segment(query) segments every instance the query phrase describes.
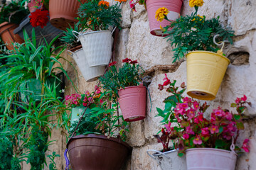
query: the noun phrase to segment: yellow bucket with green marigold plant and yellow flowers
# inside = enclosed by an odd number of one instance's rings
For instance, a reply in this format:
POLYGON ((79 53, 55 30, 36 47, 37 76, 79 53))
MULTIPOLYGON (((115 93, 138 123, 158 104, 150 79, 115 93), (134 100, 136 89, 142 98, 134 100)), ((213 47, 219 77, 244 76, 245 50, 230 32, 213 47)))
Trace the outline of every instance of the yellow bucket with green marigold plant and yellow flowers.
MULTIPOLYGON (((230 63, 223 55, 223 47, 220 49, 218 45, 224 45, 224 42, 232 44, 234 31, 224 28, 219 17, 206 19, 206 16, 198 16, 198 6, 203 5, 203 0, 191 0, 189 4, 196 12, 191 16, 181 16, 163 30, 169 34, 166 36, 167 41, 175 46, 174 62, 186 55, 188 95, 213 100, 230 63), (224 42, 217 44, 215 39, 224 42)), ((158 16, 164 16, 168 21, 164 13, 158 16)))

